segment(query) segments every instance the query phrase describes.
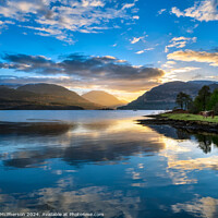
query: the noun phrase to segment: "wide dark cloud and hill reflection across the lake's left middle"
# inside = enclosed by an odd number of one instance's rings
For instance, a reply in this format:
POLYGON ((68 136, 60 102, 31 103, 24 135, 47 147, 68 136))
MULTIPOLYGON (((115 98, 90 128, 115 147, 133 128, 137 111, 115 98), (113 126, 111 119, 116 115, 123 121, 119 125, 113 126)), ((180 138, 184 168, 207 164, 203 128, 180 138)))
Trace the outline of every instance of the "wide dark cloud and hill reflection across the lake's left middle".
POLYGON ((16 141, 16 146, 10 155, 4 153, 0 157, 4 166, 17 168, 40 167, 53 158, 81 166, 120 161, 136 154, 154 155, 165 147, 154 140, 156 133, 150 132, 145 138, 142 133, 138 135, 137 129, 130 130, 129 122, 4 123, 5 128, 0 131, 0 138, 4 141, 0 146, 8 141, 16 141))

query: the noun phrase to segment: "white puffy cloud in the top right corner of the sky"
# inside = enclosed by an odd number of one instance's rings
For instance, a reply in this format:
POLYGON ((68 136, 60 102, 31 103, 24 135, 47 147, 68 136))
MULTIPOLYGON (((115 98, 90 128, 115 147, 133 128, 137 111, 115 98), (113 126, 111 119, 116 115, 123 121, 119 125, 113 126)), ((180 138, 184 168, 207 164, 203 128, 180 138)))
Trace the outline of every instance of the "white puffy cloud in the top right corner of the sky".
POLYGON ((218 21, 218 0, 196 1, 191 8, 180 11, 177 7, 171 9, 171 13, 180 16, 193 17, 197 21, 218 21))

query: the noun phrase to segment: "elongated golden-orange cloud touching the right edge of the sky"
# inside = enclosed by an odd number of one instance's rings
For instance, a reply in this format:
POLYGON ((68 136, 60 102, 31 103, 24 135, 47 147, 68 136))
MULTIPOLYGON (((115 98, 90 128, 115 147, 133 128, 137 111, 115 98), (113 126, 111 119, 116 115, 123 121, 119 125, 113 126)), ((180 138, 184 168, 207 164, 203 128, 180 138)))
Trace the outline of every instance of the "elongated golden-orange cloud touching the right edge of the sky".
POLYGON ((179 61, 209 63, 209 65, 218 66, 218 52, 180 50, 169 53, 167 58, 179 61))

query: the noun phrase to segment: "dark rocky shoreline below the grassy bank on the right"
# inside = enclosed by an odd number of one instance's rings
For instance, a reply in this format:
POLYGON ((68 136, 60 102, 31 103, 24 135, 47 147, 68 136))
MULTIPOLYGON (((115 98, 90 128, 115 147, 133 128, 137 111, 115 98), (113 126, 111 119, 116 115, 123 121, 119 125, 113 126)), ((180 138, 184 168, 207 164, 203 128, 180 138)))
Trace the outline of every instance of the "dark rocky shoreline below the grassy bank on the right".
POLYGON ((187 132, 196 133, 217 133, 218 123, 207 121, 194 121, 194 120, 175 120, 162 117, 165 113, 145 116, 148 119, 137 120, 142 125, 170 125, 175 129, 184 130, 187 132))

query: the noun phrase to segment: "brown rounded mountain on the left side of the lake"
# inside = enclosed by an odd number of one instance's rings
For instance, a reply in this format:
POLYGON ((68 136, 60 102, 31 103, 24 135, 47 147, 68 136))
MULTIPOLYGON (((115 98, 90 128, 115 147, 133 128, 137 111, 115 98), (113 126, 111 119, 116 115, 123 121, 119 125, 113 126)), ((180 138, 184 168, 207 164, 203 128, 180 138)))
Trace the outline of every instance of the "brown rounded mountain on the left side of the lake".
POLYGON ((74 92, 53 84, 0 86, 0 109, 100 109, 74 92))

